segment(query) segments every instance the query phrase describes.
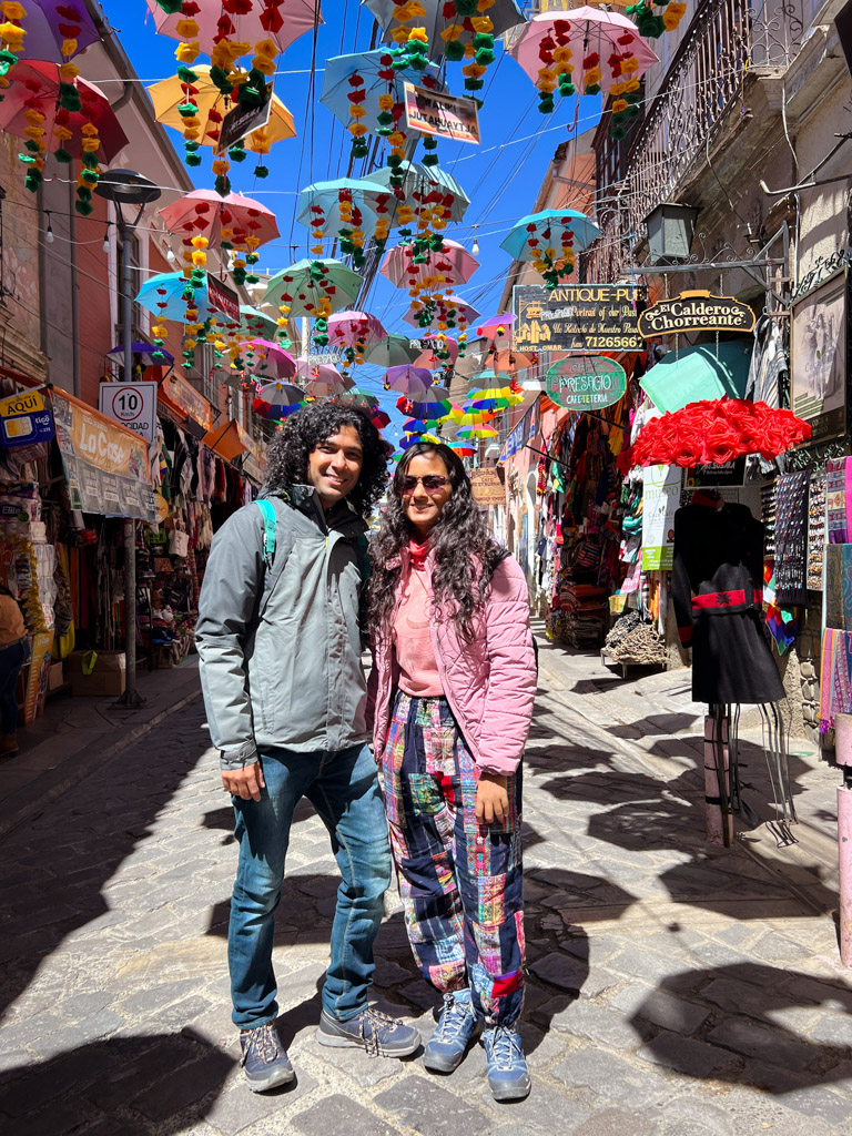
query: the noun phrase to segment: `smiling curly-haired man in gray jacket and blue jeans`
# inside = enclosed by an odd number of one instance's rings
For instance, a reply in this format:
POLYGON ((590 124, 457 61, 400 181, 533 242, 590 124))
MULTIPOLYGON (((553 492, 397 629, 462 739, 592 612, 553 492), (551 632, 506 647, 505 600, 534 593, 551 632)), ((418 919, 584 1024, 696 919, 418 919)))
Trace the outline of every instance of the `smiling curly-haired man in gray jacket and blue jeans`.
POLYGON ((245 506, 223 526, 204 574, 195 641, 210 734, 236 812, 228 966, 253 1092, 294 1076, 274 1025, 272 951, 302 796, 323 818, 343 877, 317 1039, 386 1056, 419 1045, 417 1030, 367 1009, 391 860, 365 744, 359 603, 364 518, 386 481, 384 442, 364 412, 306 407, 269 448, 264 503, 245 506))

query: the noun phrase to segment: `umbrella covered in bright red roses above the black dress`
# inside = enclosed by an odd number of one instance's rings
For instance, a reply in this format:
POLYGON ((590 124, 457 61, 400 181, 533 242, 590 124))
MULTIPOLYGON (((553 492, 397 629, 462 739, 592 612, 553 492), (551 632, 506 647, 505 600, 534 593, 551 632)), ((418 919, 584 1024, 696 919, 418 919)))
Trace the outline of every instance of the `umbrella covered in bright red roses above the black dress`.
POLYGON ((777 458, 811 436, 811 427, 792 410, 774 410, 746 399, 708 399, 652 418, 635 443, 619 454, 632 466, 724 465, 746 453, 777 458))

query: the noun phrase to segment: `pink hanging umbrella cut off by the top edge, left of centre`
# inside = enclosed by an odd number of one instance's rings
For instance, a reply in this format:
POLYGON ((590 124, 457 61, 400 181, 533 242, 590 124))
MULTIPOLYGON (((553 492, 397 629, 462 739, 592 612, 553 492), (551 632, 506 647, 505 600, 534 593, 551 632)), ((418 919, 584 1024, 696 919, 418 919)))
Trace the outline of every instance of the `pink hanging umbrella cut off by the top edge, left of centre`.
MULTIPOLYGON (((185 19, 185 5, 160 6, 158 0, 148 0, 153 14, 153 24, 160 35, 183 40, 178 25, 185 19), (167 10, 174 9, 172 11, 167 10)), ((247 51, 260 40, 272 40, 278 51, 284 51, 300 35, 310 32, 318 19, 319 5, 316 0, 241 0, 229 3, 227 10, 223 0, 194 0, 194 19, 199 49, 209 56, 219 40, 225 37, 236 43, 245 43, 247 51), (223 22, 227 20, 225 26, 223 22)))

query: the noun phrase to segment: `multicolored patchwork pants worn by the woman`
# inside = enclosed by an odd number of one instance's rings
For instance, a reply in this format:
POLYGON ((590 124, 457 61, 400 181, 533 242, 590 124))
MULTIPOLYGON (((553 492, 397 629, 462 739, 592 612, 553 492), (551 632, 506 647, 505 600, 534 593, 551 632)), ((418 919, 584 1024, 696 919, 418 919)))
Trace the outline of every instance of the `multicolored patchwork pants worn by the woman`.
POLYGON ((470 987, 487 1026, 524 1002, 520 768, 504 821, 476 820, 478 770, 444 699, 400 692, 385 745, 391 850, 415 960, 441 993, 470 987))

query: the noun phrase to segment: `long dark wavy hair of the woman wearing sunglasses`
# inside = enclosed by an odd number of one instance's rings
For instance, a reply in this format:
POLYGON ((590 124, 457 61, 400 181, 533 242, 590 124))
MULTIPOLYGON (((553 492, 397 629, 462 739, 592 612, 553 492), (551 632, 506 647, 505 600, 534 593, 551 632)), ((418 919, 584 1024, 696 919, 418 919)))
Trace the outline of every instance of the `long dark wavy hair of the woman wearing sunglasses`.
POLYGON ((393 618, 402 568, 387 568, 386 565, 399 557, 400 550, 416 535, 406 516, 402 483, 411 459, 432 453, 443 461, 452 486, 441 517, 429 533, 429 548, 435 554, 434 604, 438 611, 450 615, 460 636, 469 642, 474 635, 474 616, 485 602, 494 570, 508 552, 488 533, 459 456, 448 445, 434 442, 417 442, 406 450, 387 490, 387 510, 370 541, 373 571, 367 618, 374 633, 386 629, 393 618))

